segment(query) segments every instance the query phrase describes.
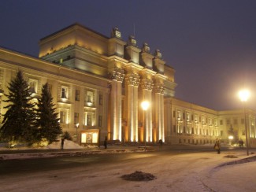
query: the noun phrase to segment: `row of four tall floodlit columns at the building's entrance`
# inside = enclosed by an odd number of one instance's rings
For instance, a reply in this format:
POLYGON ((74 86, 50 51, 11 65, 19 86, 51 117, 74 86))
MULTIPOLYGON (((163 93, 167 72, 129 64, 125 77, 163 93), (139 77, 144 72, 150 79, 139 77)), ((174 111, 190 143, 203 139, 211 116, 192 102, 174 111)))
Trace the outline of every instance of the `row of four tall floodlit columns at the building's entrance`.
MULTIPOLYGON (((150 70, 149 70, 150 71, 150 70)), ((145 75, 141 73, 142 79, 137 72, 127 72, 125 76, 125 102, 126 102, 126 127, 122 131, 122 83, 124 80, 124 70, 115 68, 112 72, 111 85, 111 104, 110 104, 110 133, 113 133, 113 139, 128 142, 144 142, 139 139, 139 108, 144 100, 150 103, 149 109, 145 112, 143 127, 147 127, 145 132, 147 142, 158 142, 159 139, 165 141, 164 131, 164 87, 161 78, 152 76, 156 73, 145 75), (148 77, 151 78, 148 78, 148 77), (154 94, 152 94, 154 93, 154 94), (153 111, 154 110, 154 111, 153 111), (154 127, 153 123, 154 122, 154 127), (155 128, 155 131, 153 131, 155 128), (123 135, 122 135, 123 133, 123 135)), ((112 137, 110 137, 112 138, 112 137)))

